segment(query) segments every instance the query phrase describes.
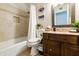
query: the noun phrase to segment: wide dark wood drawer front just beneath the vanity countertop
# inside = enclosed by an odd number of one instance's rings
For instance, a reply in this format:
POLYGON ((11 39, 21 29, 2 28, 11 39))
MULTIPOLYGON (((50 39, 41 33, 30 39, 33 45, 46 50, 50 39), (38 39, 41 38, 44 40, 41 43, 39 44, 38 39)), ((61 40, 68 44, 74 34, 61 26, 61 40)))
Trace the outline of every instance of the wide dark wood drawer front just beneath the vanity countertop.
POLYGON ((58 35, 58 34, 51 35, 50 34, 50 35, 48 35, 48 39, 49 40, 60 41, 60 42, 77 44, 77 37, 76 36, 58 35))

